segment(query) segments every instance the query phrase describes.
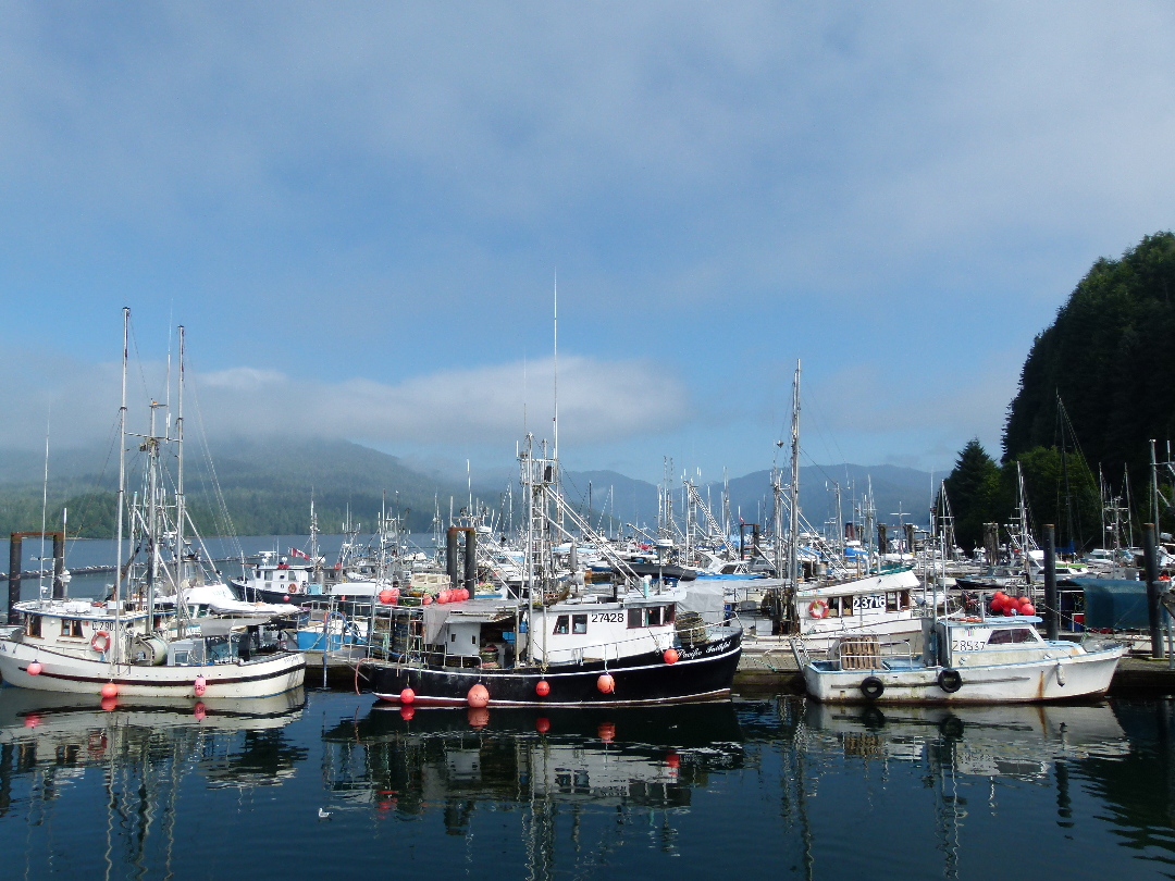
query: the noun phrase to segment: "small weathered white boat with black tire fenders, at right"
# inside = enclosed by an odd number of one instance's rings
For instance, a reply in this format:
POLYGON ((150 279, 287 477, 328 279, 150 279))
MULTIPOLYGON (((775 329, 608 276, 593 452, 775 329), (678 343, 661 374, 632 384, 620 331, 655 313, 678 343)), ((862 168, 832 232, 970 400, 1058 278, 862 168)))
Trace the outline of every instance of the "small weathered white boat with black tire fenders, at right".
POLYGON ((1126 646, 1046 640, 1034 614, 924 619, 922 650, 844 637, 826 659, 792 640, 804 685, 834 704, 1012 704, 1104 694, 1126 646))

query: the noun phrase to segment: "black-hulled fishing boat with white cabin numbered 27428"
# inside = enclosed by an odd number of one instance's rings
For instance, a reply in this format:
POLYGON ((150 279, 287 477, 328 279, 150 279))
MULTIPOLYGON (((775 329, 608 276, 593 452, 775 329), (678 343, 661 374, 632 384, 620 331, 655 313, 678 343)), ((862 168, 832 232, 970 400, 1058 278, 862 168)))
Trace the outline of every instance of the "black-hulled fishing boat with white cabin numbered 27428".
POLYGON ((612 554, 610 585, 555 567, 553 537, 573 529, 605 549, 557 491, 558 462, 528 435, 519 451, 530 513, 526 578, 516 598, 381 594, 361 679, 394 704, 624 706, 730 694, 741 653, 738 624, 680 611, 680 585, 653 585, 612 554), (411 603, 412 605, 405 605, 411 603), (421 605, 415 605, 421 603, 421 605))

